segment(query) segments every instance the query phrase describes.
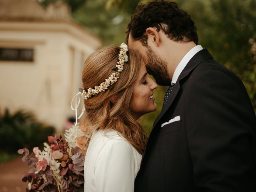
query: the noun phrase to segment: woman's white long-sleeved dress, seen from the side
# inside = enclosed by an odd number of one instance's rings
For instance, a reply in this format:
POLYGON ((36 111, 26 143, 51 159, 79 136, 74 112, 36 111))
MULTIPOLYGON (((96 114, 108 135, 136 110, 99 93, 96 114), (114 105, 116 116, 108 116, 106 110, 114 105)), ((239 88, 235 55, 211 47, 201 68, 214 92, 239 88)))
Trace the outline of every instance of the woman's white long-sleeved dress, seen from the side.
POLYGON ((141 158, 115 130, 94 133, 84 161, 84 191, 134 192, 141 158))

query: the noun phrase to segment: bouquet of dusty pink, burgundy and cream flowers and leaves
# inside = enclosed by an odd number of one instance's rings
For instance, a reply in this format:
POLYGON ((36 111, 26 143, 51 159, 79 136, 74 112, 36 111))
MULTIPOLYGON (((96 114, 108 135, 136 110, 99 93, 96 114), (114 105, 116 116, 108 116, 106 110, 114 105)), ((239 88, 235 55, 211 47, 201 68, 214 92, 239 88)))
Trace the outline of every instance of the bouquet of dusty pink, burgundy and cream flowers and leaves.
POLYGON ((64 137, 48 136, 44 150, 18 150, 30 170, 22 178, 28 182, 26 192, 84 192, 84 149, 78 146, 83 136, 79 126, 66 130, 64 137))

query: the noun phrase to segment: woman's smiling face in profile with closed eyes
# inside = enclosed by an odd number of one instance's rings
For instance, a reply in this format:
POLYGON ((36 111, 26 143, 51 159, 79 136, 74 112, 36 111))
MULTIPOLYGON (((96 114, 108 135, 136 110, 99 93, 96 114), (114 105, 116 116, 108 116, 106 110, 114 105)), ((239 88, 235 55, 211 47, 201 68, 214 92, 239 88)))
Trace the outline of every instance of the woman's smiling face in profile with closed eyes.
POLYGON ((147 75, 145 65, 142 64, 132 94, 132 112, 136 118, 156 110, 157 106, 154 102, 153 90, 157 87, 156 82, 147 75))

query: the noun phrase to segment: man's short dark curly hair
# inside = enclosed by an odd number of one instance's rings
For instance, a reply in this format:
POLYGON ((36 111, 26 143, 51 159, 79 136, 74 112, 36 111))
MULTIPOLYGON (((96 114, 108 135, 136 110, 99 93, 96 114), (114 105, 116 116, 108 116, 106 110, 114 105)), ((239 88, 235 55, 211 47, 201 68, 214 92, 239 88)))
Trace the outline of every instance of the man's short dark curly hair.
POLYGON ((128 24, 126 43, 131 34, 134 40, 140 40, 144 46, 147 46, 148 27, 156 28, 157 31, 162 30, 171 40, 194 41, 198 44, 194 22, 189 14, 178 8, 175 2, 161 0, 138 5, 128 24))

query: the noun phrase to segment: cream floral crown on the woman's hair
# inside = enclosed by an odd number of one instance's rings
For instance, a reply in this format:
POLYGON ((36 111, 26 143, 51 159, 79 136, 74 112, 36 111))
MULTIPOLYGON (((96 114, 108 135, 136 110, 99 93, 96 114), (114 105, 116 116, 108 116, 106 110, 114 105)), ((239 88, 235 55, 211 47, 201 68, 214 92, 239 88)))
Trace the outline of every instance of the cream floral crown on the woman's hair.
POLYGON ((120 76, 120 72, 122 72, 122 70, 124 69, 124 62, 128 61, 128 56, 126 54, 126 52, 128 51, 127 45, 125 43, 122 43, 120 45, 120 48, 121 50, 118 57, 119 61, 117 62, 116 67, 112 69, 113 72, 110 77, 105 79, 105 81, 102 82, 99 86, 95 86, 94 88, 88 88, 87 91, 82 88, 79 89, 82 97, 85 100, 102 91, 105 92, 105 90, 107 90, 110 85, 114 84, 117 81, 120 76))

